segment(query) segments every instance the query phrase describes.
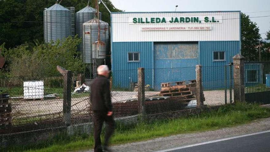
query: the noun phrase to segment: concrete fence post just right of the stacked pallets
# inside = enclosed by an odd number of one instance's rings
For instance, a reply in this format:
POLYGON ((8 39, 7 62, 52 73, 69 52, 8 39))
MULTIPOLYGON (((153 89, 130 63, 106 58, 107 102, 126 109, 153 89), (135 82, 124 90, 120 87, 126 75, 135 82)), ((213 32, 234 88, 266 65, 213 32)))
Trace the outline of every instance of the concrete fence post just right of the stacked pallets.
POLYGON ((202 65, 196 65, 196 99, 197 107, 203 106, 202 65))

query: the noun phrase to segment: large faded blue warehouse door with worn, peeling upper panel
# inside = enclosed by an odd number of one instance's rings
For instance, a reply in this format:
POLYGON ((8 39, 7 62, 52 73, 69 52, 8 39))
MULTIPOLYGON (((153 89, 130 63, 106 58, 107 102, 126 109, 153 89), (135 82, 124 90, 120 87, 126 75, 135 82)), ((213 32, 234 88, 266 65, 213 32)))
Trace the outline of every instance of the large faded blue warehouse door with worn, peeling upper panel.
POLYGON ((195 79, 198 42, 154 42, 154 88, 164 82, 195 79))

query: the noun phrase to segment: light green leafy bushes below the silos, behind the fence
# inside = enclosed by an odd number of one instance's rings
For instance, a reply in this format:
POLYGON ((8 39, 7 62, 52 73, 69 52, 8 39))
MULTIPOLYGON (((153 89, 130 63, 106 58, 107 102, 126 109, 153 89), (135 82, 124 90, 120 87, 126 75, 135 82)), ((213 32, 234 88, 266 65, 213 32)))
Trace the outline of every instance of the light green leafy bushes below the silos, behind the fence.
POLYGON ((57 65, 75 74, 83 72, 83 61, 79 59, 77 45, 81 42, 78 36, 67 37, 48 44, 19 45, 14 49, 4 51, 2 54, 10 63, 10 73, 14 77, 44 77, 56 76, 59 72, 57 65))

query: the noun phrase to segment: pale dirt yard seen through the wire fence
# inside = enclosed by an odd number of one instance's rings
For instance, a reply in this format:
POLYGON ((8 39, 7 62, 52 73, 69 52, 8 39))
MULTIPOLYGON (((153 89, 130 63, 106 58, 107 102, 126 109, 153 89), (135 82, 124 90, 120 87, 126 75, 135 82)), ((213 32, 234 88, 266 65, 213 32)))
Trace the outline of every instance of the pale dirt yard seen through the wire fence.
MULTIPOLYGON (((127 100, 137 100, 137 92, 112 92, 112 103, 125 102, 127 100)), ((224 90, 204 91, 205 102, 207 105, 225 104, 224 90)), ((159 98, 159 92, 145 92, 145 98, 159 98)), ((232 93, 233 98, 233 93, 232 93)), ((230 93, 227 91, 227 102, 229 103, 230 93)), ((46 100, 10 100, 12 103, 13 117, 24 118, 29 116, 46 115, 52 113, 61 113, 63 110, 63 99, 46 99, 46 100)), ((72 113, 87 113, 89 107, 88 97, 72 98, 72 113)), ((192 100, 189 107, 196 106, 196 100, 192 100)), ((60 115, 60 114, 59 114, 60 115)))

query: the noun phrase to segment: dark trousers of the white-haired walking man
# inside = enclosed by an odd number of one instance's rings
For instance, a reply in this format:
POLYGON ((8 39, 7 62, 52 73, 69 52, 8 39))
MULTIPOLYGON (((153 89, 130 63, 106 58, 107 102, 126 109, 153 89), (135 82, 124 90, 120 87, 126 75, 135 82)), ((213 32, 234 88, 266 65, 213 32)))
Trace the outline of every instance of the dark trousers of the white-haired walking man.
POLYGON ((102 152, 100 134, 103 122, 106 122, 106 133, 104 146, 108 146, 109 139, 114 132, 114 119, 113 116, 107 116, 107 111, 94 111, 94 138, 95 138, 95 152, 102 152))

